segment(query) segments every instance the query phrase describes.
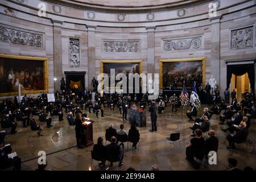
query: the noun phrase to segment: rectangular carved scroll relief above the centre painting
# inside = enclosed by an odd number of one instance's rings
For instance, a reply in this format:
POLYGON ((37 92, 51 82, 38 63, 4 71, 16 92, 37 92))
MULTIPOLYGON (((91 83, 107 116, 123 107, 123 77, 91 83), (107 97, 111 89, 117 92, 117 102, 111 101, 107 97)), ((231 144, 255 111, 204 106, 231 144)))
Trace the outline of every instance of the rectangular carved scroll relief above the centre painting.
POLYGON ((104 52, 138 52, 139 41, 103 41, 104 52))

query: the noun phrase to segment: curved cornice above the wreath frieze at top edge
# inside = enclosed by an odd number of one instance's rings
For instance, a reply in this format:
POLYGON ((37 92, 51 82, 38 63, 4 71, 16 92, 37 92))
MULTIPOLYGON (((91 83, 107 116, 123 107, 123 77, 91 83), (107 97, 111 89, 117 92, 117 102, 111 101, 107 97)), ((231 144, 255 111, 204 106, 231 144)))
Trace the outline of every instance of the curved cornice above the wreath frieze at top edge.
POLYGON ((79 9, 101 11, 158 11, 209 2, 209 0, 45 0, 79 9))

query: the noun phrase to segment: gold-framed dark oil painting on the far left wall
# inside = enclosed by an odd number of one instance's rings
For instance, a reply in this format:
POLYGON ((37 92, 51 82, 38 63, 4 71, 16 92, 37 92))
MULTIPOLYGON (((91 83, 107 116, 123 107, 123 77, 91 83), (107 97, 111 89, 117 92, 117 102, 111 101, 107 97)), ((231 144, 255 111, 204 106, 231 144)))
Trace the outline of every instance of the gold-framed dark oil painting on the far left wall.
POLYGON ((0 54, 0 96, 48 92, 46 57, 0 54))

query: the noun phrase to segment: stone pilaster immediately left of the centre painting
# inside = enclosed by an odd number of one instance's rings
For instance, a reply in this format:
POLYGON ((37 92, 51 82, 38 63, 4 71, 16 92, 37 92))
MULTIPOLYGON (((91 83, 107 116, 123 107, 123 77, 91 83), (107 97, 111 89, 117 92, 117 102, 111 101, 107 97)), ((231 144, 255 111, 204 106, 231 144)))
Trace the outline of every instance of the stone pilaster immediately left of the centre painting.
POLYGON ((96 26, 87 26, 88 27, 88 87, 92 89, 92 79, 96 75, 96 63, 95 63, 95 30, 96 26))

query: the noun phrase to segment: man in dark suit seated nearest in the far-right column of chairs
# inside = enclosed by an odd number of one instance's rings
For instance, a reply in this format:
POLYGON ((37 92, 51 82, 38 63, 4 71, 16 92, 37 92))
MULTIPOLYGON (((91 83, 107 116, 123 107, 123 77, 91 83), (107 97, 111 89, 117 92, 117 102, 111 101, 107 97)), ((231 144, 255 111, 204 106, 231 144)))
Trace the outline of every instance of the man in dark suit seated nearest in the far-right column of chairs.
POLYGON ((236 134, 229 134, 227 139, 229 142, 228 149, 236 149, 235 143, 242 143, 246 141, 248 135, 248 129, 246 127, 245 122, 241 122, 240 124, 241 129, 237 131, 236 134))

